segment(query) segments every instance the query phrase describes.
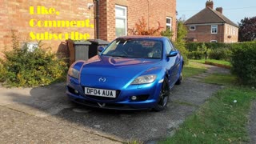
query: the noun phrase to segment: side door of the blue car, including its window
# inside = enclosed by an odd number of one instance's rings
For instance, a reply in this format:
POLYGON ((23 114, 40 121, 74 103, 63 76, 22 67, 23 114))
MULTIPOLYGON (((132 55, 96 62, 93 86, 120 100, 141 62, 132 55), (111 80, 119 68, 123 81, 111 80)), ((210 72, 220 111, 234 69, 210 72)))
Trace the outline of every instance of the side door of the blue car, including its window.
MULTIPOLYGON (((166 54, 170 54, 170 51, 177 51, 172 42, 169 39, 166 40, 166 54)), ((180 57, 181 55, 178 53, 174 57, 167 57, 166 62, 168 63, 168 74, 169 74, 169 84, 170 87, 174 86, 175 82, 178 80, 179 74, 179 66, 180 66, 180 57)))

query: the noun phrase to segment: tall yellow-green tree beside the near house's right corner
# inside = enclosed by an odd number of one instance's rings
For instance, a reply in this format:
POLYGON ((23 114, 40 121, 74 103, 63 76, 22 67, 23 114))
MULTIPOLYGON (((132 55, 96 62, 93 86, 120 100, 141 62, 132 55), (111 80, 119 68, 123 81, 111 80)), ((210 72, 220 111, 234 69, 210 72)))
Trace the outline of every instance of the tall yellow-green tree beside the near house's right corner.
POLYGON ((177 49, 182 53, 184 62, 187 63, 188 59, 187 59, 187 54, 189 53, 186 50, 186 42, 184 40, 184 38, 186 37, 187 34, 187 30, 186 30, 186 26, 184 26, 183 21, 182 20, 178 20, 178 29, 177 29, 177 38, 176 38, 176 42, 174 42, 175 46, 177 47, 177 49))

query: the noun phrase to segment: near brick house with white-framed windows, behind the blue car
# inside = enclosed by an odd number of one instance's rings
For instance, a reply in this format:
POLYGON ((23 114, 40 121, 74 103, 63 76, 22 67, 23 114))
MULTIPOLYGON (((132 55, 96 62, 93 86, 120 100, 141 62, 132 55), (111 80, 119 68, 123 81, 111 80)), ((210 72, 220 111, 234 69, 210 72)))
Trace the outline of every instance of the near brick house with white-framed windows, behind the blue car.
POLYGON ((128 35, 142 17, 149 27, 160 22, 163 30, 170 28, 175 38, 176 0, 4 0, 0 5, 0 53, 10 49, 11 31, 21 42, 42 39, 56 52, 65 49, 70 37, 110 42, 128 35))

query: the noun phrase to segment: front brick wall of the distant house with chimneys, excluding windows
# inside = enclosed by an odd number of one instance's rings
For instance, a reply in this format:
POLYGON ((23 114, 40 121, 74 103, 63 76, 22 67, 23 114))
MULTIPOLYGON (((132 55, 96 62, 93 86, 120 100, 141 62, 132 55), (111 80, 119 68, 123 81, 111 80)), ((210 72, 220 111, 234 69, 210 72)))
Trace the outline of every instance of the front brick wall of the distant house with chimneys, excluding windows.
POLYGON ((186 38, 195 38, 197 42, 210 42, 211 40, 223 42, 224 40, 223 25, 218 25, 218 34, 211 34, 211 25, 196 26, 196 30, 190 30, 190 26, 187 26, 187 30, 186 38))

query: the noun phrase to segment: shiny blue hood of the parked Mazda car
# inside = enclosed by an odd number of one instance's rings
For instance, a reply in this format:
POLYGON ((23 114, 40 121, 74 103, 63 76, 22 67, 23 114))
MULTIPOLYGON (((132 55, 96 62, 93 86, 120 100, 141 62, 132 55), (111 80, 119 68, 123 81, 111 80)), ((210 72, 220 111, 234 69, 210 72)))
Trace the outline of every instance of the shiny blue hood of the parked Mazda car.
POLYGON ((101 75, 116 78, 134 78, 154 66, 159 66, 159 59, 121 58, 94 56, 82 66, 81 74, 101 75))

